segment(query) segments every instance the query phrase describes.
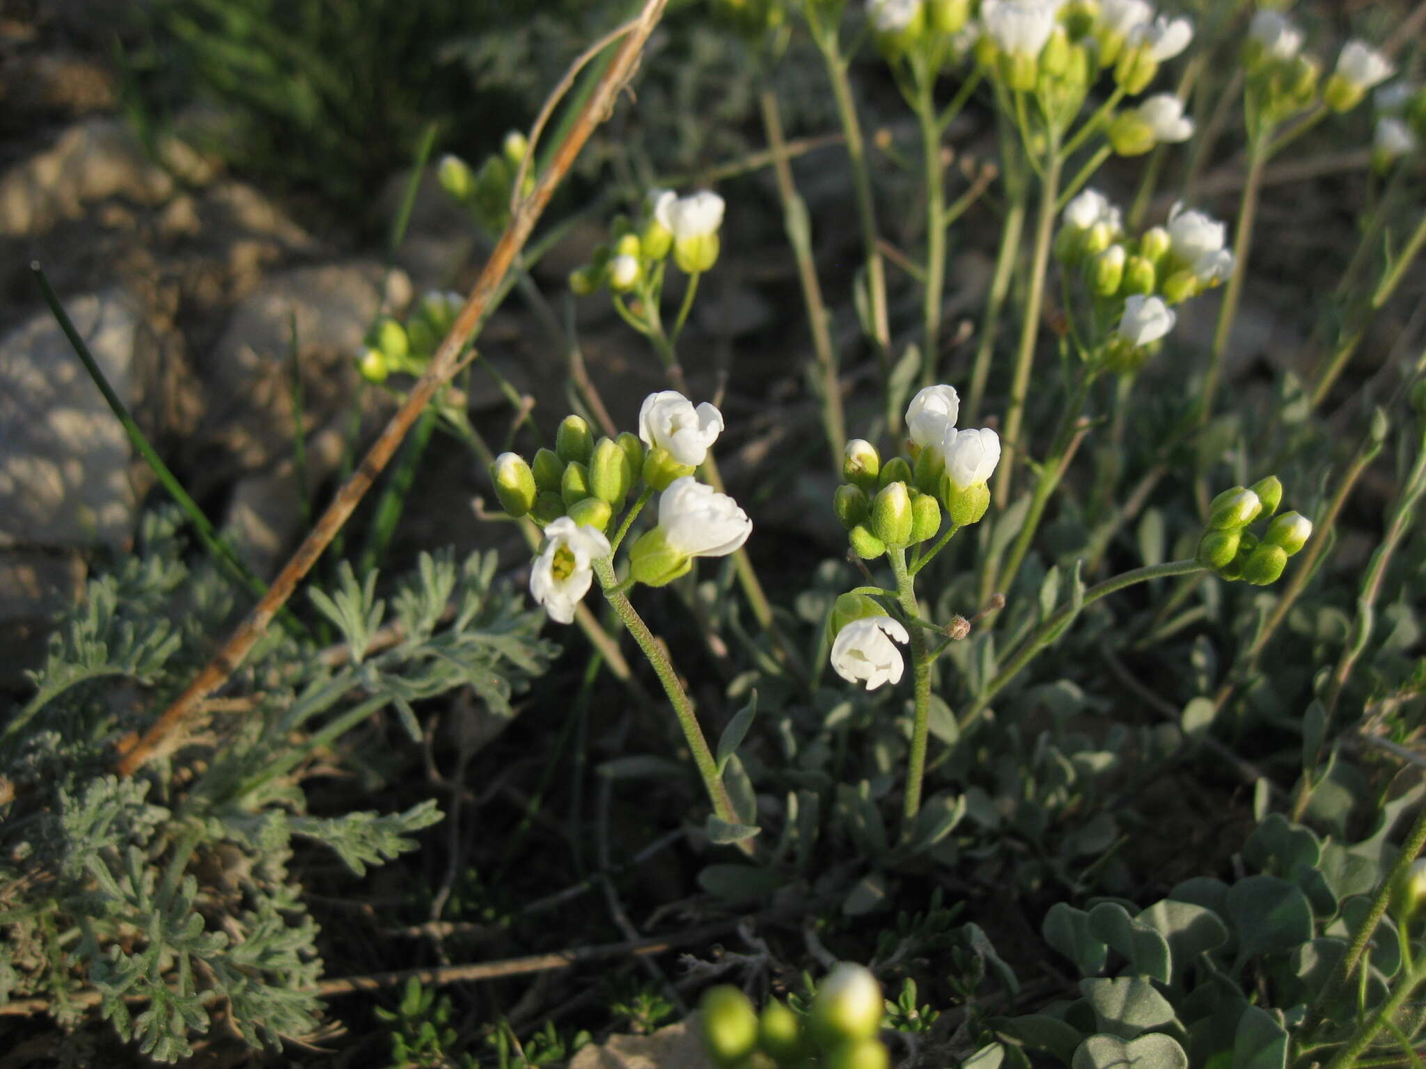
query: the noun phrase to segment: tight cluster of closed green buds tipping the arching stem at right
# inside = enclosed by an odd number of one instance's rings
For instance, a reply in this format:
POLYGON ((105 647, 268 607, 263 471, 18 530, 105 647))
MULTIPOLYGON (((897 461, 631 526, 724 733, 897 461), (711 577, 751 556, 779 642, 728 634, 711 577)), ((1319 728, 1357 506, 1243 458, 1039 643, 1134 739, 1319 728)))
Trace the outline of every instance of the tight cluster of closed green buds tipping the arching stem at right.
POLYGON ((1214 497, 1208 507, 1208 527, 1198 542, 1198 563, 1224 579, 1242 579, 1255 586, 1275 583, 1288 566, 1288 557, 1312 536, 1312 520, 1306 516, 1296 512, 1273 516, 1281 503, 1282 483, 1272 475, 1214 497), (1269 520, 1261 536, 1249 530, 1259 520, 1269 520))

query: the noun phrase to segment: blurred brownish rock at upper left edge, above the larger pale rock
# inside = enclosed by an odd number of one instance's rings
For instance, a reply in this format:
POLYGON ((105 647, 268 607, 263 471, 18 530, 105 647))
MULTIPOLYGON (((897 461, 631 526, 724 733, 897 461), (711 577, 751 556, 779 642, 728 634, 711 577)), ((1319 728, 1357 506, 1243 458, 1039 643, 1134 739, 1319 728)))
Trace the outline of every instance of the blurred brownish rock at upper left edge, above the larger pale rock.
POLYGON ((87 118, 0 177, 0 235, 43 234, 60 220, 83 215, 86 204, 111 197, 160 204, 173 188, 173 178, 120 121, 87 118))

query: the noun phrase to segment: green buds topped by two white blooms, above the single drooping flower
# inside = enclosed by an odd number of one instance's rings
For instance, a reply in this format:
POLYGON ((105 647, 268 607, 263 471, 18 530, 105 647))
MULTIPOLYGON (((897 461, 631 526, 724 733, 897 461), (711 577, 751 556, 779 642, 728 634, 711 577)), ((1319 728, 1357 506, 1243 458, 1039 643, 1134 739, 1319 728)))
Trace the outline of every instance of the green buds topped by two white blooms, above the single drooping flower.
POLYGON ((833 509, 853 552, 874 560, 941 530, 941 509, 955 527, 975 523, 990 506, 987 480, 1000 463, 1000 436, 990 428, 958 430, 953 386, 927 386, 907 408, 906 452, 883 463, 877 448, 854 438, 843 453, 846 482, 833 509))

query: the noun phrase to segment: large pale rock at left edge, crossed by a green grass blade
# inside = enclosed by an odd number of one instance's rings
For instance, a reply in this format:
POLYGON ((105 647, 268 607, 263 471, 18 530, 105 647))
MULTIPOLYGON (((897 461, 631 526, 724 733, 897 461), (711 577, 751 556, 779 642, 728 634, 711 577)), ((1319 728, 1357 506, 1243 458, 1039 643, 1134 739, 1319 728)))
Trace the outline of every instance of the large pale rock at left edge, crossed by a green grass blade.
MULTIPOLYGON (((66 301, 120 398, 140 318, 118 291, 66 301)), ((133 533, 128 438, 48 311, 0 341, 0 546, 114 549, 133 533)))

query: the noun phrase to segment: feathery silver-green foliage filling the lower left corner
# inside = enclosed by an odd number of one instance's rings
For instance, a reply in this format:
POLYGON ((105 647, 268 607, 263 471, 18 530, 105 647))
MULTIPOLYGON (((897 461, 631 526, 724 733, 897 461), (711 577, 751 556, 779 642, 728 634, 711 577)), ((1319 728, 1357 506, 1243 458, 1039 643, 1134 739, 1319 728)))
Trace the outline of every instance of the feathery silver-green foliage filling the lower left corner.
POLYGON ((456 687, 511 716, 511 697, 556 653, 538 637, 540 614, 495 584, 493 553, 463 566, 422 554, 389 603, 374 576, 358 583, 344 567, 312 601, 345 647, 274 627, 224 691, 240 701, 217 707, 244 711, 208 713, 174 754, 118 778, 116 741, 151 723, 231 617, 227 584, 183 562, 175 527, 150 517, 143 552, 88 583, 33 673, 33 698, 0 730, 0 785, 14 794, 0 807, 0 1005, 40 998, 73 1029, 97 1001, 160 1062, 190 1056, 214 1018, 252 1046, 317 1028, 322 961, 288 868, 297 841, 361 877, 441 820, 429 800, 309 812, 314 751, 329 761, 388 708, 419 738, 414 703, 456 687), (398 627, 378 636, 388 607, 398 627))

